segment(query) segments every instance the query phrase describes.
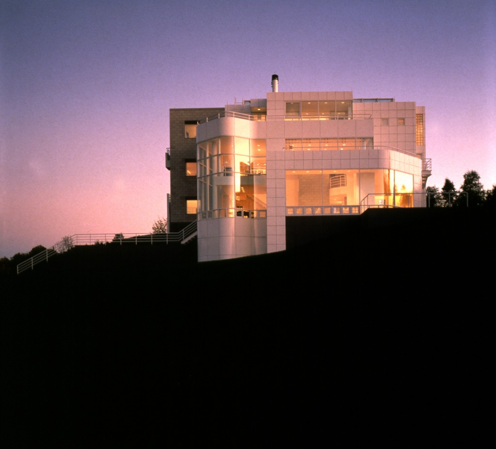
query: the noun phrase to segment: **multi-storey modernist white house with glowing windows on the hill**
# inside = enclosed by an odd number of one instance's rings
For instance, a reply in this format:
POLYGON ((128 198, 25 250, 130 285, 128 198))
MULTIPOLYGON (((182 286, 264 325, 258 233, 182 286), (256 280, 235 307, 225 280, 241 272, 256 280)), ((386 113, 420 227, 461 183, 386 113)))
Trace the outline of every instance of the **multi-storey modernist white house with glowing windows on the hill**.
POLYGON ((185 203, 190 218, 169 219, 198 220, 199 261, 285 250, 286 223, 295 216, 425 206, 431 167, 425 108, 415 102, 354 98, 349 91, 279 92, 273 75, 266 98, 201 112, 171 110, 168 156, 169 213, 185 203), (194 156, 178 151, 175 159, 173 128, 194 156), (192 178, 195 198, 179 198, 183 178, 192 178))

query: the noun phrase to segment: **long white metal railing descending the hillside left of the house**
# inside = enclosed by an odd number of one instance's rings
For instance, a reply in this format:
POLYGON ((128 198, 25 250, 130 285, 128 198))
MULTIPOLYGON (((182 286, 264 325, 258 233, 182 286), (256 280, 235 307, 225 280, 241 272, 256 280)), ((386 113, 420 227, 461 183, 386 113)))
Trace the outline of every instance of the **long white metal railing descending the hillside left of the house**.
POLYGON ((17 265, 17 274, 25 270, 33 269, 38 263, 48 261, 48 259, 56 254, 64 253, 75 246, 99 245, 99 244, 150 244, 154 243, 175 243, 184 242, 188 237, 192 236, 197 229, 197 222, 193 221, 180 232, 166 232, 162 234, 74 234, 70 237, 64 237, 62 241, 57 242, 53 247, 47 248, 41 253, 30 257, 27 260, 17 265))

